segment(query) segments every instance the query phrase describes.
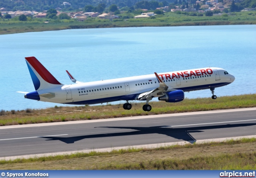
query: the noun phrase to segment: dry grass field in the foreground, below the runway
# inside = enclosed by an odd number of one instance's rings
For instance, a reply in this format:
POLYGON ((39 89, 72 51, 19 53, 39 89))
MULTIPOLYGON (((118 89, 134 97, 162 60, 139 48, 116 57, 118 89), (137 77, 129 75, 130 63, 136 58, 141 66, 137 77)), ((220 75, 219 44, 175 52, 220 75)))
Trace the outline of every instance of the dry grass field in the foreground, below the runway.
POLYGON ((253 170, 256 138, 174 145, 155 149, 128 148, 0 160, 0 169, 18 170, 253 170))

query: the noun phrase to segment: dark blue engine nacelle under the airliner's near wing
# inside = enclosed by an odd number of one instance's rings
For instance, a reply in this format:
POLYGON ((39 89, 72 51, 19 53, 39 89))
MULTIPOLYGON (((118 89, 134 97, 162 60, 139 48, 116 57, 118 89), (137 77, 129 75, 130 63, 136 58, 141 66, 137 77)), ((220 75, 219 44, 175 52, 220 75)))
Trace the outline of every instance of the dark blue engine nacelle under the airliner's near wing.
POLYGON ((158 100, 171 103, 181 102, 184 100, 184 92, 182 90, 168 92, 164 96, 158 97, 158 100))

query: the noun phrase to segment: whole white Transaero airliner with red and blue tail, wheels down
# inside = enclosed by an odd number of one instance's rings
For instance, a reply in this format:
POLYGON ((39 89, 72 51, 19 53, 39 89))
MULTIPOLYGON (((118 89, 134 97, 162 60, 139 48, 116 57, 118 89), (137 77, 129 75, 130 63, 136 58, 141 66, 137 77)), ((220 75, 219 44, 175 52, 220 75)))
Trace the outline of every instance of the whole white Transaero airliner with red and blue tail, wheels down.
POLYGON ((24 93, 24 98, 60 104, 88 105, 114 101, 126 101, 125 110, 130 110, 130 100, 146 101, 142 107, 150 111, 148 104, 154 97, 160 101, 181 102, 184 92, 210 89, 212 99, 216 99, 214 89, 234 82, 235 77, 226 70, 216 67, 197 68, 175 72, 164 72, 100 80, 78 82, 66 70, 75 84, 61 84, 35 57, 25 57, 28 70, 35 87, 33 92, 24 93))

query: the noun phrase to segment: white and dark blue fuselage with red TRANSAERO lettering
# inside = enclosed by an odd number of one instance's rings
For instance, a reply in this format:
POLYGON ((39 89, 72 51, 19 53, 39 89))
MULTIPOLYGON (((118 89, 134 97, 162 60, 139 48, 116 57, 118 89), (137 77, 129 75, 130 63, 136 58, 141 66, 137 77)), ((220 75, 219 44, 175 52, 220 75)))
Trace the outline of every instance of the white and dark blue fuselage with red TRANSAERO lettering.
MULTIPOLYGON (((168 89, 184 92, 225 86, 234 76, 222 68, 198 68, 158 74, 168 89)), ((40 96, 40 101, 63 104, 99 104, 118 100, 136 100, 138 95, 159 87, 154 74, 76 83, 56 88, 37 90, 38 94, 53 93, 54 97, 40 96)))

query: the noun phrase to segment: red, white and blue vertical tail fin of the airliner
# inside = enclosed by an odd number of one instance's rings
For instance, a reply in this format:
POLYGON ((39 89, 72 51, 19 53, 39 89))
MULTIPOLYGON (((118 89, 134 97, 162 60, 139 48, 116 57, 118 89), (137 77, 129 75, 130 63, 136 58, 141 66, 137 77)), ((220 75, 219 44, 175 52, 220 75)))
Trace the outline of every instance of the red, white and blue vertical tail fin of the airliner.
POLYGON ((25 59, 36 91, 63 85, 35 57, 25 59))

